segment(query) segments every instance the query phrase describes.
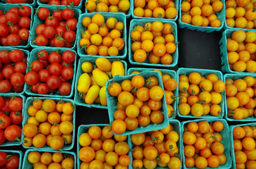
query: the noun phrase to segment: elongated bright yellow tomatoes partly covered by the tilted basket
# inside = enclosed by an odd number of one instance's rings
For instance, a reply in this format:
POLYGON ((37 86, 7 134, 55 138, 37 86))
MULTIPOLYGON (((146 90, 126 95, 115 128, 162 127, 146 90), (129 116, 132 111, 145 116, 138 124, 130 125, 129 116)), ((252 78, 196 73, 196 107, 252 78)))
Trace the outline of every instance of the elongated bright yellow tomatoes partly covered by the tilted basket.
POLYGON ((81 69, 83 73, 78 79, 78 95, 86 104, 107 106, 105 84, 115 75, 125 75, 123 63, 121 61, 111 63, 107 58, 97 58, 95 67, 93 67, 93 63, 85 61, 81 64, 81 69))

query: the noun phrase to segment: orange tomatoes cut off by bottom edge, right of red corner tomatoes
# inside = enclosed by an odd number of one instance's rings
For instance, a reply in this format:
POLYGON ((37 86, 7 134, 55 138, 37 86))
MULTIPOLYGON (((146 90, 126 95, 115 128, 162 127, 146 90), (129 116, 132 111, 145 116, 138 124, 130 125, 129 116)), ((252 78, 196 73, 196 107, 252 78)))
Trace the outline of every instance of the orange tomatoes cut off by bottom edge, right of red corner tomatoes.
POLYGON ((35 169, 74 168, 75 165, 73 155, 59 152, 31 151, 28 154, 28 162, 32 163, 35 169))

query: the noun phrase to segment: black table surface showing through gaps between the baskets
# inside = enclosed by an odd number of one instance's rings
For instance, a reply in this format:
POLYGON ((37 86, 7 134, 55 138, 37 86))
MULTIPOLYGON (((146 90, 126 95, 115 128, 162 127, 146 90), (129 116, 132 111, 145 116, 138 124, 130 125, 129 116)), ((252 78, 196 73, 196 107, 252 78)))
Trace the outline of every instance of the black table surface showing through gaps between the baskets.
MULTIPOLYGON (((84 7, 82 9, 84 12, 84 7)), ((127 19, 127 32, 129 33, 129 23, 131 18, 127 19)), ((178 21, 176 22, 178 25, 178 21)), ((219 40, 222 32, 197 32, 178 27, 178 65, 175 68, 167 68, 178 70, 178 68, 204 68, 212 70, 221 70, 221 55, 219 49, 219 40)), ((128 37, 128 35, 127 35, 128 37)), ((128 39, 128 38, 127 38, 128 39)), ((30 49, 31 50, 31 49, 30 49)), ((128 49, 129 50, 129 49, 128 49)), ((127 52, 128 54, 128 52, 127 52)), ((132 68, 128 61, 128 56, 124 59, 127 61, 127 68, 132 68)), ((78 61, 77 61, 78 63, 78 61)), ((136 65, 136 67, 138 67, 136 65)), ((141 66, 141 68, 145 66, 141 66)), ((161 67, 154 67, 161 68, 161 67)), ((75 77, 75 76, 74 76, 75 77)), ((27 96, 27 95, 26 95, 27 96)), ((74 96, 71 98, 74 99, 74 96)), ((185 118, 177 118, 178 120, 188 120, 185 118)), ((76 106, 76 133, 74 148, 71 151, 76 152, 77 130, 79 125, 89 124, 108 124, 109 118, 106 109, 87 108, 83 106, 76 106)), ((236 123, 228 123, 233 125, 236 123)), ((25 154, 23 146, 8 146, 0 147, 0 149, 21 150, 25 154)))

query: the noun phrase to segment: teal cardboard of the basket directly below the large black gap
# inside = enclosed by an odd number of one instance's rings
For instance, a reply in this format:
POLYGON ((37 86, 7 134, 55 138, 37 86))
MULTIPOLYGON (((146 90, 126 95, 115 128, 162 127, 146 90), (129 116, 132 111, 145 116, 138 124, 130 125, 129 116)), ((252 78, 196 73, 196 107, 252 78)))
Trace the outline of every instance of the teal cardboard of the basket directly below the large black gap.
MULTIPOLYGON (((207 75, 213 73, 215 75, 218 76, 219 80, 222 80, 223 81, 223 74, 221 73, 221 71, 219 70, 209 70, 209 69, 197 69, 197 68, 179 68, 178 71, 177 71, 177 77, 179 79, 180 75, 190 75, 190 73, 192 72, 197 72, 199 73, 200 75, 206 77, 207 75)), ((179 85, 179 82, 178 82, 178 85, 179 85)), ((179 91, 176 90, 176 94, 175 96, 179 96, 179 91)), ((177 112, 178 112, 178 116, 182 117, 182 118, 223 118, 223 115, 224 115, 224 111, 225 111, 225 108, 224 108, 224 98, 225 98, 225 91, 221 92, 221 103, 219 104, 219 106, 221 106, 221 115, 218 115, 218 116, 213 116, 213 115, 202 115, 200 117, 195 117, 194 115, 192 115, 191 113, 189 113, 188 115, 181 115, 180 112, 179 112, 179 107, 177 106, 177 112)))

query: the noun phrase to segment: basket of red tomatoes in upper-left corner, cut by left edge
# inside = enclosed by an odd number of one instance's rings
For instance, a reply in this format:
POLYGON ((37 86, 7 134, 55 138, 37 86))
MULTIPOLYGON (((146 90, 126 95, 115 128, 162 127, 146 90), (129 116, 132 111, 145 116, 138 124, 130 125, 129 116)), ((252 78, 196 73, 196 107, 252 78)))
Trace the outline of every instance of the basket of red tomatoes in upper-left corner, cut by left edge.
POLYGON ((1 46, 22 46, 28 48, 28 37, 33 8, 30 6, 18 6, 0 9, 0 37, 1 46))

